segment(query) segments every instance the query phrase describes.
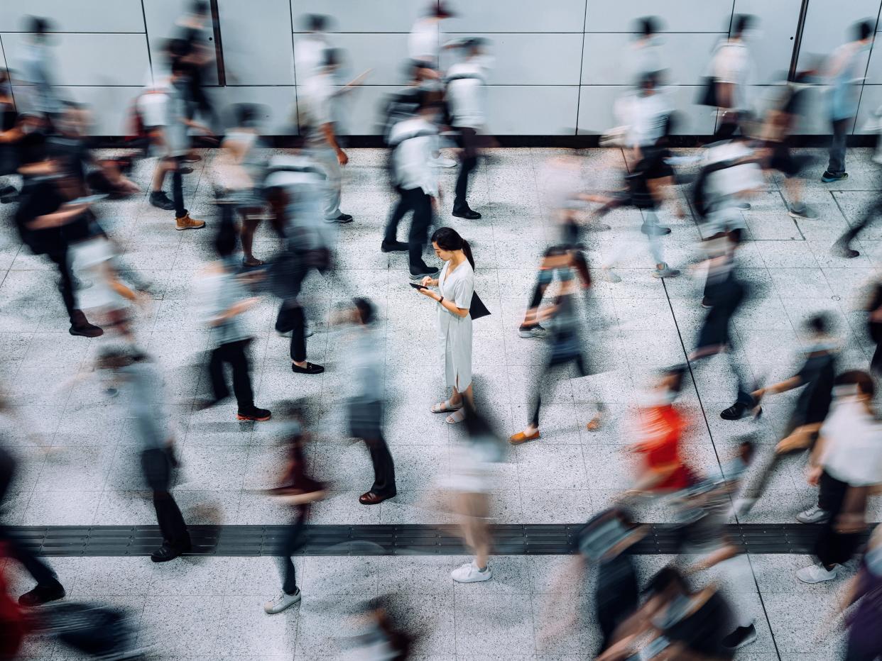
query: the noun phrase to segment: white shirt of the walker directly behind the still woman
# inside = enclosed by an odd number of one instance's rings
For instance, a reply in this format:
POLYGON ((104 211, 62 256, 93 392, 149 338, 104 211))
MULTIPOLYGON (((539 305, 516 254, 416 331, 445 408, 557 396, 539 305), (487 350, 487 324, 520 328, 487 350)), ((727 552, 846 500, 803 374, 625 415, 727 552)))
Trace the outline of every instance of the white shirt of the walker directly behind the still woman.
POLYGON ((437 197, 438 182, 435 159, 437 127, 422 117, 403 120, 392 127, 389 134, 392 145, 392 167, 395 181, 405 190, 422 189, 437 197))

